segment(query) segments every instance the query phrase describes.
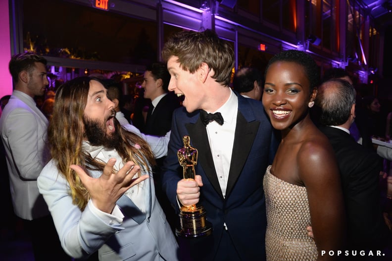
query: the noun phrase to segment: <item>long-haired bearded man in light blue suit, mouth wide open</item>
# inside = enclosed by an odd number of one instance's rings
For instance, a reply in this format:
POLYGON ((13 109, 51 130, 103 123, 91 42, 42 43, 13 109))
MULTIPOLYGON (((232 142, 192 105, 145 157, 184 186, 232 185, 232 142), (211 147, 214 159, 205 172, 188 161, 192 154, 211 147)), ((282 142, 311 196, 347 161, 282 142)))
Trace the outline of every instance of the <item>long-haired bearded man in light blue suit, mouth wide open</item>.
POLYGON ((52 159, 38 178, 62 247, 73 258, 178 260, 154 194, 148 144, 115 119, 98 79, 56 92, 48 137, 52 159))

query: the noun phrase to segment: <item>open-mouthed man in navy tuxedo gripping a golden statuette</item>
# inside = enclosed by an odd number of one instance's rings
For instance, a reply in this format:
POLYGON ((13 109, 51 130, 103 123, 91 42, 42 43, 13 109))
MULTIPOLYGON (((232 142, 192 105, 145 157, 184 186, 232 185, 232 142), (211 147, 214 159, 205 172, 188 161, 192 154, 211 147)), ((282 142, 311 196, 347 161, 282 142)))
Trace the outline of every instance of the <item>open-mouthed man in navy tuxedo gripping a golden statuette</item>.
POLYGON ((169 90, 184 97, 173 113, 163 188, 177 212, 199 202, 213 227, 207 237, 180 240, 180 250, 189 243, 195 261, 265 260, 263 177, 279 142, 262 103, 231 90, 234 52, 213 31, 173 35, 162 58, 169 90), (185 135, 198 151, 195 180, 183 178, 177 155, 185 135))

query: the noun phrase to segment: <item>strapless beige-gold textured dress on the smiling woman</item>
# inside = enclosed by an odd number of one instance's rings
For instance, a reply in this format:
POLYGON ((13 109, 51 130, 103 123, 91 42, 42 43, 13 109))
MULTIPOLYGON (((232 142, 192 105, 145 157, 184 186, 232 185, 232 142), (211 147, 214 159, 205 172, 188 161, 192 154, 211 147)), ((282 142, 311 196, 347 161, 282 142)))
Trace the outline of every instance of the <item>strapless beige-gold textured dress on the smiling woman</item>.
POLYGON ((306 188, 275 177, 270 168, 267 167, 263 180, 267 210, 267 261, 316 260, 316 244, 306 233, 306 226, 310 225, 306 188))

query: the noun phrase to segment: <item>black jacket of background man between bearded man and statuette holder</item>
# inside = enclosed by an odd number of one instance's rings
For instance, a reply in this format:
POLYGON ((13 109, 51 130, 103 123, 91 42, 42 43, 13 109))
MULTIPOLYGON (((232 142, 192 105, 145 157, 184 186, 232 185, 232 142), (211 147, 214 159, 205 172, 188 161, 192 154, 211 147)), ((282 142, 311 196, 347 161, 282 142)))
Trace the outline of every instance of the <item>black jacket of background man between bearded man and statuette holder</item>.
POLYGON ((165 95, 156 105, 153 113, 147 113, 144 133, 148 135, 165 136, 171 128, 173 111, 179 106, 179 100, 174 93, 165 95))

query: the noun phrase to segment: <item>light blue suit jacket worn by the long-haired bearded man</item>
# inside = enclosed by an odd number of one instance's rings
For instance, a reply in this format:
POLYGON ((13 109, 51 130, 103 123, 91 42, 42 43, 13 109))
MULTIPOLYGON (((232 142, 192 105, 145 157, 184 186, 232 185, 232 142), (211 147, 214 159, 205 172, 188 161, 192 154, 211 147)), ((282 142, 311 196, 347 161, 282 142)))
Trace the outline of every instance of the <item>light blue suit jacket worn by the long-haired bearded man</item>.
MULTIPOLYGON (((92 175, 95 176, 95 175, 92 175)), ((176 261, 178 245, 155 197, 151 173, 146 186, 146 213, 139 224, 125 215, 121 224, 99 218, 88 205, 81 211, 72 204, 69 184, 50 160, 38 178, 38 187, 49 206, 65 252, 73 258, 85 258, 98 250, 101 261, 176 261)), ((141 213, 127 198, 131 209, 141 213)), ((135 218, 136 219, 136 218, 135 218)))

